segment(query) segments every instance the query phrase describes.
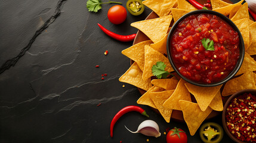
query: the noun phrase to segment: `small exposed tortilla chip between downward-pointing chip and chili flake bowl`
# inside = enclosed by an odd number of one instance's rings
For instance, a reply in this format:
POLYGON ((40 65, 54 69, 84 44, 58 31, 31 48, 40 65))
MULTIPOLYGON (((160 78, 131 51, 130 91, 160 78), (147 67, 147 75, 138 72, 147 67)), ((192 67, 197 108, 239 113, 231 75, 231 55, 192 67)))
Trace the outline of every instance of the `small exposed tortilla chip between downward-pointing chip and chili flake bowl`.
POLYGON ((215 111, 223 111, 223 102, 222 102, 220 91, 217 92, 217 94, 209 104, 209 107, 211 107, 212 110, 215 110, 215 111))

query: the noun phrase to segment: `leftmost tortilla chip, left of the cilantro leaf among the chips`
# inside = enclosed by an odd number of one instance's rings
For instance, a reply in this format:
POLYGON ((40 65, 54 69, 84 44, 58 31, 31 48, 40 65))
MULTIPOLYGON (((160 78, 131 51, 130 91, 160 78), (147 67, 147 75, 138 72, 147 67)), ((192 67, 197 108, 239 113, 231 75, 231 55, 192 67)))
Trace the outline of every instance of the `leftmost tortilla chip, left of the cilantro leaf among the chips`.
POLYGON ((152 87, 151 79, 142 79, 142 71, 136 62, 119 78, 119 81, 137 86, 145 91, 152 87))

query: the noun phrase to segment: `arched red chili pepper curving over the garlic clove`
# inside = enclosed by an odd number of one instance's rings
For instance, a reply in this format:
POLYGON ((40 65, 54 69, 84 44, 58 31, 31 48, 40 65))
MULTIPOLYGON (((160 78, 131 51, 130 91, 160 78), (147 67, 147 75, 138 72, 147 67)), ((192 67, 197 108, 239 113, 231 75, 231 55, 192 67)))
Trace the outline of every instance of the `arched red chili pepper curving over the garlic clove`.
POLYGON ((118 121, 118 119, 121 116, 123 116, 125 113, 128 113, 130 111, 137 111, 137 112, 141 113, 142 115, 149 117, 149 115, 147 115, 146 111, 143 110, 143 108, 140 108, 138 106, 130 105, 130 106, 122 108, 118 113, 116 113, 115 117, 113 117, 112 122, 110 124, 110 136, 111 136, 111 138, 113 138, 113 129, 114 129, 114 125, 115 125, 116 121, 118 121))

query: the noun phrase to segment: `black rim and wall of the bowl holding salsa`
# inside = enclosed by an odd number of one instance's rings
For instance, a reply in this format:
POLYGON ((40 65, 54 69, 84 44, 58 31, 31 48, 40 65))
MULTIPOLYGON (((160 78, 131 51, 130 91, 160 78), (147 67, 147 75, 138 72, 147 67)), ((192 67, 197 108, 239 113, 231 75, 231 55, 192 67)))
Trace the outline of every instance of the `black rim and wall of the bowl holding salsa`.
POLYGON ((235 74, 238 72, 238 70, 240 69, 240 66, 243 63, 243 57, 245 56, 245 45, 243 43, 243 38, 242 35, 238 29, 238 27, 236 27, 236 25, 233 23, 233 21, 231 21, 229 18, 227 18, 225 15, 218 13, 216 11, 211 11, 211 10, 196 10, 196 11, 192 11, 190 13, 187 13, 185 15, 183 15, 183 17, 181 17, 180 19, 177 20, 177 22, 172 26, 171 31, 169 32, 168 35, 168 39, 167 39, 167 43, 166 43, 166 47, 167 47, 167 55, 168 55, 168 59, 169 62, 171 63, 171 66, 173 67, 173 69, 178 73, 178 75, 183 78, 184 80, 186 80, 189 83, 192 83, 193 85, 197 85, 197 86, 217 86, 217 85, 221 85, 225 82, 227 82, 227 80, 231 79, 233 76, 235 76, 235 74), (224 21, 226 21, 230 26, 233 27, 233 29, 238 32, 239 38, 240 38, 240 57, 238 59, 238 63, 236 63, 236 67, 235 69, 233 69, 233 71, 229 74, 229 76, 227 76, 226 78, 224 78, 223 80, 221 80, 220 82, 215 82, 215 83, 210 83, 210 84, 206 84, 206 83, 199 83, 199 82, 195 82, 192 81, 190 79, 187 79, 186 77, 184 77, 177 69, 177 67, 175 66, 174 62, 172 61, 172 56, 171 56, 171 50, 169 50, 169 42, 171 41, 172 35, 176 29, 176 27, 178 26, 178 24, 180 23, 180 21, 182 21, 184 18, 188 17, 189 15, 193 15, 193 14, 202 14, 202 13, 208 13, 208 14, 214 14, 217 15, 218 17, 222 18, 224 21))

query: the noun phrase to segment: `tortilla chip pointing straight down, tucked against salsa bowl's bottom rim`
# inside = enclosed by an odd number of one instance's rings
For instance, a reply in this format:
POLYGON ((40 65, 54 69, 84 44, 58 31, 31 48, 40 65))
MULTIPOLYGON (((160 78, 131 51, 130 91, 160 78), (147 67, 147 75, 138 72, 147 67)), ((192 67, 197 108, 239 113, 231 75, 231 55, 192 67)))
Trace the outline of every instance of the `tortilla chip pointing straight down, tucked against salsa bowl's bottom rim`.
POLYGON ((196 98, 196 102, 198 102, 199 107, 202 111, 205 111, 209 106, 215 95, 222 85, 212 86, 212 87, 201 87, 192 85, 190 83, 185 83, 187 90, 196 98))

